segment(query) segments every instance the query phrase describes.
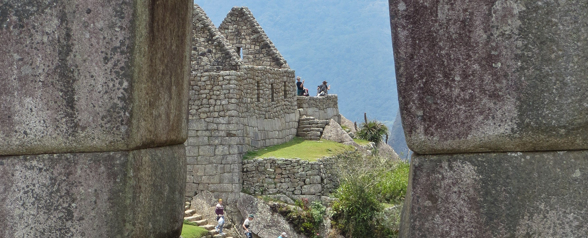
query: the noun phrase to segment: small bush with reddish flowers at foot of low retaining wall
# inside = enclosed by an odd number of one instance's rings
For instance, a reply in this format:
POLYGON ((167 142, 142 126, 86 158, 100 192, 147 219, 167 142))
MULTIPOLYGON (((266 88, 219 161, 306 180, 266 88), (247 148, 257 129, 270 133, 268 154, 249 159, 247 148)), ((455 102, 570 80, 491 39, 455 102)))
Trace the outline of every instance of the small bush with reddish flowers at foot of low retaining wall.
POLYGON ((295 206, 284 203, 270 204, 273 212, 278 212, 292 223, 294 229, 306 234, 310 238, 320 238, 318 233, 319 225, 323 222, 326 208, 320 202, 309 203, 308 199, 295 200, 295 206))

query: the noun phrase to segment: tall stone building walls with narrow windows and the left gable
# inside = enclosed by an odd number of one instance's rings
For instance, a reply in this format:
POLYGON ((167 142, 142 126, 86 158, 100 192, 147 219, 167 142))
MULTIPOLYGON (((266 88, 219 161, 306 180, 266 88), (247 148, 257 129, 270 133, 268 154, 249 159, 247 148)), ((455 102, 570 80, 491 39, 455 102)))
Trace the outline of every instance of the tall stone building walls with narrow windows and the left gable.
MULTIPOLYGON (((287 64, 245 65, 202 8, 193 13, 185 196, 210 191, 232 203, 242 189, 242 155, 296 134, 295 73, 287 64)), ((223 22, 232 23, 239 21, 223 22)))

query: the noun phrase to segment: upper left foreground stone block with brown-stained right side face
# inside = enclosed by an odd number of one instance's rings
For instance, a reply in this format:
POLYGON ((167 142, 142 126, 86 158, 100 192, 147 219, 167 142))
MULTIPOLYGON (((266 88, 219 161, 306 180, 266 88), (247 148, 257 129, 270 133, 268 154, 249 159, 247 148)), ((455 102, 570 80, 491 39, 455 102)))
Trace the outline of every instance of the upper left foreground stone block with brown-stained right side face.
POLYGON ((186 140, 191 1, 2 1, 0 9, 0 155, 186 140))

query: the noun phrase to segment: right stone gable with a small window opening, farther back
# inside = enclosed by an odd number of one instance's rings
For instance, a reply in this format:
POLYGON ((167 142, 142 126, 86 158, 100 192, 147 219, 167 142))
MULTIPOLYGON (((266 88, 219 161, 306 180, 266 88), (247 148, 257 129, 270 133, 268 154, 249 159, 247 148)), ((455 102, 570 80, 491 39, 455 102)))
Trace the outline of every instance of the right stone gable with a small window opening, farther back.
POLYGON ((249 8, 233 7, 218 29, 233 50, 241 50, 244 64, 290 69, 249 8))

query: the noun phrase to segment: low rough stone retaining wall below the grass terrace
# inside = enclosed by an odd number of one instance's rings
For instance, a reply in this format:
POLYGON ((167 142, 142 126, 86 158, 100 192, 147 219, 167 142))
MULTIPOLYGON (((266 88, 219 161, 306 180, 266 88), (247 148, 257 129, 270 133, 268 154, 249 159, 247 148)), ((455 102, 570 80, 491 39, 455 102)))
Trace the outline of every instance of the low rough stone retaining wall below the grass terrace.
POLYGON ((337 186, 332 158, 318 161, 263 158, 243 161, 243 189, 255 195, 276 193, 294 199, 328 196, 337 186))

